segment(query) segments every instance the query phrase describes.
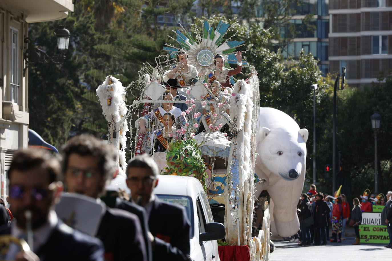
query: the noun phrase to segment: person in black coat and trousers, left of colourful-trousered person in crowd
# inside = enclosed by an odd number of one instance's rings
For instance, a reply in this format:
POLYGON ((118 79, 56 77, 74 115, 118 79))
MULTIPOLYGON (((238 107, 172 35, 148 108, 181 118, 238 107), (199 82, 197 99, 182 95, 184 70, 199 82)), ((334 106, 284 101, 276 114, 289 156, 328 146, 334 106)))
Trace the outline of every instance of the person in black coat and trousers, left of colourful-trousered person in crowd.
POLYGON ((324 201, 323 193, 316 194, 316 207, 314 209, 314 227, 316 230, 316 240, 314 245, 327 245, 327 226, 329 212, 331 212, 328 207, 327 202, 324 201), (321 238, 320 238, 321 236, 321 238), (322 241, 322 242, 321 242, 322 241))

